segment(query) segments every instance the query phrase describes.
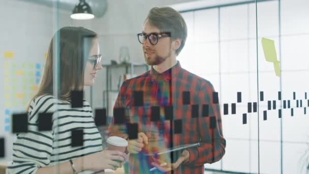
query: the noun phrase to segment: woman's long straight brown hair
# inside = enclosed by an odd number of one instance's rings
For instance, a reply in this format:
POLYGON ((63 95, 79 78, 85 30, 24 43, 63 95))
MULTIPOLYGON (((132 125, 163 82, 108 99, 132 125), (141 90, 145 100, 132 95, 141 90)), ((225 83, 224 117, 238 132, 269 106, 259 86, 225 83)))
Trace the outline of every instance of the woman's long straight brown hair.
MULTIPOLYGON (((84 68, 97 34, 83 27, 63 27, 58 30, 48 48, 43 76, 37 94, 30 100, 53 93, 53 46, 58 47, 60 100, 69 100, 72 90, 83 90, 84 68), (57 41, 57 43, 54 43, 57 41)), ((29 110, 29 105, 27 111, 29 110)))

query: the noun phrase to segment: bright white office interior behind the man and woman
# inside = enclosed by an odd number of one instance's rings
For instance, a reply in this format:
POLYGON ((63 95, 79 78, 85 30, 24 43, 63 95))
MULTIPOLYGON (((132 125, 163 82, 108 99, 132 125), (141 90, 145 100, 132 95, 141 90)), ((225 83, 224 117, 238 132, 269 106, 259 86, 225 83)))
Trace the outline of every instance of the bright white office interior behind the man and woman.
MULTIPOLYGON (((206 164, 205 173, 308 172, 309 1, 109 0, 103 17, 83 21, 71 19, 71 10, 57 6, 78 1, 54 1, 51 6, 42 2, 0 0, 0 137, 5 138, 6 152, 0 162, 11 159, 15 138, 11 114, 22 112, 35 94, 48 44, 58 28, 84 26, 96 31, 102 64, 119 62, 123 46, 129 49, 130 62, 144 63, 136 34, 152 7, 170 6, 181 12, 188 25, 188 40, 178 56, 181 66, 211 81, 219 92, 226 154, 221 161, 206 164), (280 76, 273 63, 266 61, 262 38, 274 41, 280 76), (241 102, 237 102, 239 93, 241 102), (288 105, 289 100, 290 107, 284 108, 284 101, 288 105), (236 114, 232 114, 232 103, 236 114), (224 104, 228 114, 224 114, 224 104)), ((143 71, 136 69, 137 73, 143 71)), ((117 90, 123 70, 115 69, 112 74, 112 88, 117 90)), ((94 109, 106 107, 106 82, 106 71, 102 70, 96 85, 85 89, 94 109)))

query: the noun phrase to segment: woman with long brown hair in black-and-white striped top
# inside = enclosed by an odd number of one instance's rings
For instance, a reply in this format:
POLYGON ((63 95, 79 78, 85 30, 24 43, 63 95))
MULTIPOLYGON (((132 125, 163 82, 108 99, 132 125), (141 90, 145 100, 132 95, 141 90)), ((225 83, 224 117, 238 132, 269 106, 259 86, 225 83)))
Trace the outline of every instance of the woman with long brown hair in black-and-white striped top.
POLYGON ((71 92, 94 84, 97 71, 102 69, 100 61, 96 33, 83 27, 64 27, 56 32, 38 93, 28 107, 28 132, 18 134, 13 143, 9 173, 76 173, 122 165, 126 154, 102 151, 102 137, 88 102, 83 100, 81 108, 71 107, 71 92), (57 72, 53 72, 55 46, 59 55, 57 72), (53 83, 53 75, 58 75, 58 84, 53 83), (59 86, 56 91, 54 86, 59 86), (53 94, 58 94, 57 99, 53 94), (51 131, 38 131, 39 113, 53 113, 51 131), (72 147, 71 132, 76 129, 83 130, 82 147, 72 147))

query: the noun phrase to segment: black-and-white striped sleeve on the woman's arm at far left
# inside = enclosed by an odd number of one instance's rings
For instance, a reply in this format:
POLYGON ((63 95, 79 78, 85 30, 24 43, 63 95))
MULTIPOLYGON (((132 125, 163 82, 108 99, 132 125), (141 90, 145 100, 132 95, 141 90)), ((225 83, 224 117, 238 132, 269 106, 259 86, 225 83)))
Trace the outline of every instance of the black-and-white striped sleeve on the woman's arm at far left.
POLYGON ((13 162, 9 164, 9 173, 36 173, 38 168, 50 163, 53 133, 39 132, 37 121, 39 113, 55 110, 54 99, 51 96, 40 96, 34 101, 28 112, 28 132, 18 134, 13 143, 13 162))

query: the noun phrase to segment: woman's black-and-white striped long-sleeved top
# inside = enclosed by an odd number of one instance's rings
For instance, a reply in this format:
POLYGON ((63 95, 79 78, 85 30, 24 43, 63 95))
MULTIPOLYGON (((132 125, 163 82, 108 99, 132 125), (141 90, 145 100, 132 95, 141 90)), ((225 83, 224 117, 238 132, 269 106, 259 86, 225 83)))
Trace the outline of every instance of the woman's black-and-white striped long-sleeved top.
POLYGON ((102 137, 95 125, 87 101, 83 107, 71 108, 69 101, 50 95, 32 101, 28 112, 28 132, 17 135, 13 143, 13 162, 9 173, 36 173, 38 168, 53 166, 102 151, 102 137), (53 113, 52 130, 38 131, 39 113, 53 113), (83 130, 83 146, 71 146, 72 130, 83 130))

